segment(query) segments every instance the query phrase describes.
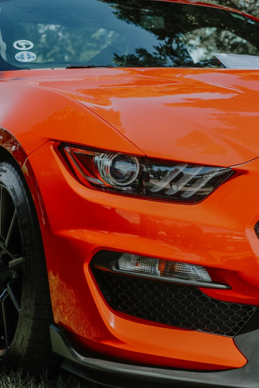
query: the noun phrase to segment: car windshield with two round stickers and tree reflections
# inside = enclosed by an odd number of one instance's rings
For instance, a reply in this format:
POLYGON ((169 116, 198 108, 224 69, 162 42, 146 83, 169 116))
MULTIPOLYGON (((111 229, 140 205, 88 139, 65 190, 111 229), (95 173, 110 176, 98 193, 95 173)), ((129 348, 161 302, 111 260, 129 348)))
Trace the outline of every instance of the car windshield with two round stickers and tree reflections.
POLYGON ((259 23, 173 1, 0 0, 0 70, 223 66, 215 53, 259 56, 259 23))

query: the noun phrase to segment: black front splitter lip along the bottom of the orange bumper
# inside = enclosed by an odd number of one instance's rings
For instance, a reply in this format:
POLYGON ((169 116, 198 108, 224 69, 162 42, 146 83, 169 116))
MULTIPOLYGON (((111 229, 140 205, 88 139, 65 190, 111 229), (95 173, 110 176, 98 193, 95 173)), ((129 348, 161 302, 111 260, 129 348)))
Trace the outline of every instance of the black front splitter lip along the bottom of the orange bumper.
MULTIPOLYGON (((257 317, 255 317, 257 318, 257 317)), ((259 325, 258 325, 259 326, 259 325)), ((51 326, 53 351, 65 358, 62 368, 114 388, 259 388, 259 329, 237 335, 235 342, 249 362, 239 369, 179 370, 107 359, 85 350, 82 356, 65 333, 51 326)))

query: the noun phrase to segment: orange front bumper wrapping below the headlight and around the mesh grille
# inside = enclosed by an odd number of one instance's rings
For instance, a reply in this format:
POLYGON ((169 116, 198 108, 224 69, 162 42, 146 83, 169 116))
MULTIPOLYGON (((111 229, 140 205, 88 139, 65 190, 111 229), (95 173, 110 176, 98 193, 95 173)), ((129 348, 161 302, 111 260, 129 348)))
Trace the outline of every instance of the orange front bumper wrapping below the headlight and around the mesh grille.
POLYGON ((254 225, 259 220, 259 159, 240 166, 242 174, 203 202, 180 205, 88 189, 53 146, 49 142, 31 154, 27 170, 31 166, 37 177, 37 191, 30 188, 41 222, 55 323, 78 345, 129 362, 205 371, 244 367, 247 357, 237 336, 183 330, 113 310, 90 262, 100 250, 111 250, 198 264, 214 281, 231 286, 202 292, 258 306, 254 225))

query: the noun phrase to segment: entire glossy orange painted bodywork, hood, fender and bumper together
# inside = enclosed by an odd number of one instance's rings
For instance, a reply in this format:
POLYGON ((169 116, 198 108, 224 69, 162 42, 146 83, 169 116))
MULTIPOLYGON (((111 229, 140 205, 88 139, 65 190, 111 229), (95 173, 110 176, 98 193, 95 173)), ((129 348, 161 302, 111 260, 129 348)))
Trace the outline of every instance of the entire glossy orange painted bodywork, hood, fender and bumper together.
POLYGON ((117 358, 186 369, 242 367, 247 360, 232 338, 112 311, 89 263, 111 249, 199 264, 231 286, 204 293, 259 305, 259 71, 6 71, 0 91, 0 146, 21 166, 34 198, 55 322, 82 346, 117 358), (57 151, 60 142, 234 166, 239 174, 196 205, 150 202, 82 186, 57 151))

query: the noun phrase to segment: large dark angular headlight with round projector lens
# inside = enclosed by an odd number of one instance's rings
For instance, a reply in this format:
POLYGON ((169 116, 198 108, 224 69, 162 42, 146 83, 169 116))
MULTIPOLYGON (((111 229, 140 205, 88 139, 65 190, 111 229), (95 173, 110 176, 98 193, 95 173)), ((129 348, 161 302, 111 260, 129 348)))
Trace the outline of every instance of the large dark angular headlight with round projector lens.
POLYGON ((62 144, 59 149, 85 186, 151 200, 197 203, 234 173, 231 168, 137 158, 79 146, 62 144))

